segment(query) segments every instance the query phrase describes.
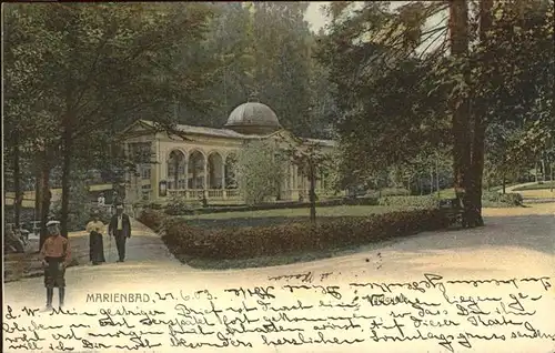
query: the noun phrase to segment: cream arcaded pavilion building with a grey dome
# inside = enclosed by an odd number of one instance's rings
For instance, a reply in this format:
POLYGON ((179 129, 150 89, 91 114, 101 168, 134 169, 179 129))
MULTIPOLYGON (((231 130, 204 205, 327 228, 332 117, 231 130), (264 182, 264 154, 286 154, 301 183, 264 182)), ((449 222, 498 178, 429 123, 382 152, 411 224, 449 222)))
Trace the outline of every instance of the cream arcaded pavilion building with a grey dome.
MULTIPOLYGON (((178 125, 175 134, 157 131, 150 121, 139 120, 123 135, 128 153, 152 153, 155 163, 138 165, 138 173, 127 175, 127 202, 164 202, 171 199, 216 203, 241 203, 241 190, 233 176, 233 162, 249 141, 268 141, 278 149, 286 148, 291 134, 282 129, 276 114, 268 105, 250 100, 236 107, 222 129, 178 125)), ((324 153, 335 142, 309 139, 324 153)), ((310 182, 302 170, 289 163, 276 200, 307 199, 310 182)), ((316 193, 326 189, 322 173, 316 193)))

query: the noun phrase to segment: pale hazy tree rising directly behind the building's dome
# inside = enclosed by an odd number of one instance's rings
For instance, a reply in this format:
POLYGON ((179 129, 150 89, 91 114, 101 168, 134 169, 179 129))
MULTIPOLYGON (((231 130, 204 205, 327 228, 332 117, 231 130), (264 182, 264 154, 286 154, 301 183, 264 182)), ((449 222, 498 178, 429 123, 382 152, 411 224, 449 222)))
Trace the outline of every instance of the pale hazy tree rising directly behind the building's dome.
POLYGON ((284 128, 296 135, 323 137, 331 103, 326 68, 312 58, 315 36, 304 21, 307 2, 212 4, 201 51, 218 62, 206 99, 221 99, 198 113, 180 104, 183 123, 220 128, 229 113, 256 92, 284 128))

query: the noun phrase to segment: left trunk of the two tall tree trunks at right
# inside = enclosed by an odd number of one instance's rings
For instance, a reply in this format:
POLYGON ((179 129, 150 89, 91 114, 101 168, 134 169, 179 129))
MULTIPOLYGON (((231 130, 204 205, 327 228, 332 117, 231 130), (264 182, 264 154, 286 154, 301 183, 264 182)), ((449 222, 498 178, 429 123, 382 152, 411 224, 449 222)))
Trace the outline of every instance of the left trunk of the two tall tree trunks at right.
MULTIPOLYGON (((463 63, 468 53, 468 8, 466 1, 450 2, 451 53, 463 63)), ((463 78, 470 81, 466 65, 463 78)), ((463 68, 463 64, 461 64, 463 68)), ((467 90, 467 89, 466 89, 467 90)), ((463 226, 468 225, 472 202, 468 199, 468 172, 471 162, 470 100, 464 92, 452 98, 453 112, 453 172, 457 199, 463 205, 463 226)))

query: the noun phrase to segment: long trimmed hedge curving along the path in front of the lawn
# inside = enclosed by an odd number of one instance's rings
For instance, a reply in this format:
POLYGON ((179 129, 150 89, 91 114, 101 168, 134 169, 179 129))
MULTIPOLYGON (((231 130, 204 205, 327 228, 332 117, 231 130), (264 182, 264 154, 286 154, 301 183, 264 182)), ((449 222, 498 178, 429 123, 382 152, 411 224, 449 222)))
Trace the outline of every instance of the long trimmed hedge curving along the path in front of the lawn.
POLYGON ((360 245, 447 226, 448 220, 440 210, 326 219, 316 224, 212 230, 179 220, 167 224, 162 239, 176 256, 231 260, 360 245))

